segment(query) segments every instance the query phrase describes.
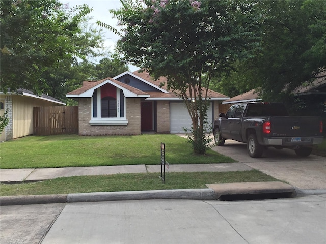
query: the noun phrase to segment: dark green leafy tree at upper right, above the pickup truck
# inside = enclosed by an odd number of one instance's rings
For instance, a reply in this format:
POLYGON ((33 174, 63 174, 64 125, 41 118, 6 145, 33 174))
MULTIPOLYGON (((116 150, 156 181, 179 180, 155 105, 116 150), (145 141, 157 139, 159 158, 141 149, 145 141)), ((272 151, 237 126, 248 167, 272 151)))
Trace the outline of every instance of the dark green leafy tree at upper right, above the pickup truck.
POLYGON ((247 84, 266 101, 293 104, 295 88, 325 76, 326 1, 258 1, 256 8, 264 16, 261 48, 250 62, 237 62, 225 83, 247 84))

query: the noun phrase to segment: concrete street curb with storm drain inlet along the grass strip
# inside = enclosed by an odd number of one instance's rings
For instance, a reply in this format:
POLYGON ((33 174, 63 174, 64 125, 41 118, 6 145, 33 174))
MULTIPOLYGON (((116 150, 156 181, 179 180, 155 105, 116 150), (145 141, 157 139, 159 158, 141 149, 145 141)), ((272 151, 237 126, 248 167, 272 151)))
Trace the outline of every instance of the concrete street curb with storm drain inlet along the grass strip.
POLYGON ((205 189, 177 189, 152 191, 125 191, 125 192, 94 192, 72 193, 63 195, 33 195, 33 196, 4 196, 0 197, 0 205, 26 205, 69 202, 98 202, 98 201, 126 201, 147 199, 193 199, 193 200, 219 200, 221 196, 259 195, 272 196, 286 193, 295 197, 293 186, 279 181, 207 184, 205 189))

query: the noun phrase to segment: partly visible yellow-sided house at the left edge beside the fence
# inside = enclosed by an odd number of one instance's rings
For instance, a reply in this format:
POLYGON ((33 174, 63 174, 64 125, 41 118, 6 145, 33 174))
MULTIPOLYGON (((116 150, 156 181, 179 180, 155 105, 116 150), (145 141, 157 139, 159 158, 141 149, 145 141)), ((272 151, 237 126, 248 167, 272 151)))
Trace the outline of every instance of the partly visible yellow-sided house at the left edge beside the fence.
POLYGON ((0 135, 0 141, 33 134, 33 107, 66 105, 58 99, 42 94, 37 96, 29 90, 20 89, 18 93, 0 92, 0 115, 8 109, 9 124, 0 135))

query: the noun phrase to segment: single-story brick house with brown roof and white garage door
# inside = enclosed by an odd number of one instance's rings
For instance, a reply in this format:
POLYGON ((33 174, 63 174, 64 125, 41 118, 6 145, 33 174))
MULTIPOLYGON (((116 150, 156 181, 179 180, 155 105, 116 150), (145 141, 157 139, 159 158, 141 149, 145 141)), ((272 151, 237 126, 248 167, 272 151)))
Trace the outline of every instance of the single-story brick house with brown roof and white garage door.
MULTIPOLYGON (((182 100, 161 77, 153 81, 146 72, 124 72, 114 78, 84 81, 66 97, 78 101, 79 135, 138 135, 141 132, 183 133, 191 119, 182 100)), ((208 119, 219 114, 227 96, 209 90, 208 119)))

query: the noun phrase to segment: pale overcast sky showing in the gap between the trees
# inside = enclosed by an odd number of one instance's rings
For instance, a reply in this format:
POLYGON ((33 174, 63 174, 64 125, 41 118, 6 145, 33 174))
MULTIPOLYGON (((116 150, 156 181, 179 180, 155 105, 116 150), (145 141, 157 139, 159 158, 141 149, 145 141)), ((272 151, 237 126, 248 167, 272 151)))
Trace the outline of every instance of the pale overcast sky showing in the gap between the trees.
MULTIPOLYGON (((89 7, 93 8, 93 11, 88 15, 93 17, 91 23, 95 23, 97 20, 111 25, 112 27, 118 28, 117 19, 112 18, 111 13, 108 11, 110 9, 118 9, 121 7, 119 0, 61 0, 63 4, 69 4, 69 7, 74 7, 77 5, 87 4, 89 7)), ((110 48, 113 53, 115 43, 118 41, 119 36, 111 31, 103 29, 105 35, 105 47, 110 48)), ((138 70, 135 66, 129 66, 131 72, 138 70)))

